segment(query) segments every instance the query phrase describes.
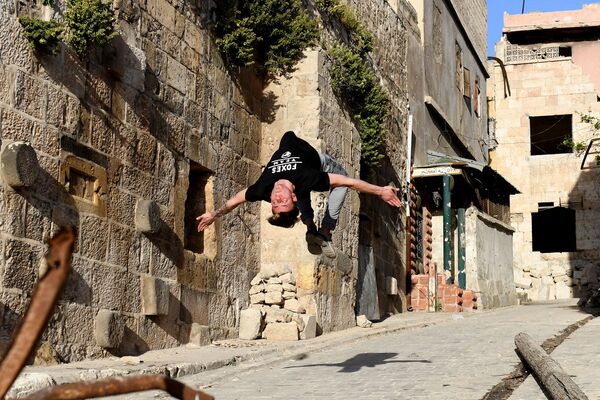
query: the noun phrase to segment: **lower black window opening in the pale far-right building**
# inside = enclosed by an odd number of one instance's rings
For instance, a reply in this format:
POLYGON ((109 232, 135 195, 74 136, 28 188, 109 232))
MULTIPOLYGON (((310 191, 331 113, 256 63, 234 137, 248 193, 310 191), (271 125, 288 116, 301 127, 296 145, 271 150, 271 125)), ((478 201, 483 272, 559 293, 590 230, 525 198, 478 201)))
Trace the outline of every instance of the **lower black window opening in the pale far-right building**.
POLYGON ((531 213, 531 238, 533 251, 576 251, 575 210, 553 207, 531 213))

